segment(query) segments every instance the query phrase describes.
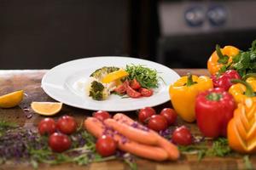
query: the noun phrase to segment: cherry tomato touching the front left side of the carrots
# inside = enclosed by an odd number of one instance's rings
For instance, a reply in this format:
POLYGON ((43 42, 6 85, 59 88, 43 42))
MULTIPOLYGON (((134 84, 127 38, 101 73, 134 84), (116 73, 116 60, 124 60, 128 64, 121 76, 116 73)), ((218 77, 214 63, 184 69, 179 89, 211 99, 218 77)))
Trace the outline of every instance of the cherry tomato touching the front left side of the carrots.
POLYGON ((112 137, 103 135, 101 138, 97 139, 96 151, 101 156, 112 156, 116 149, 117 144, 112 137))

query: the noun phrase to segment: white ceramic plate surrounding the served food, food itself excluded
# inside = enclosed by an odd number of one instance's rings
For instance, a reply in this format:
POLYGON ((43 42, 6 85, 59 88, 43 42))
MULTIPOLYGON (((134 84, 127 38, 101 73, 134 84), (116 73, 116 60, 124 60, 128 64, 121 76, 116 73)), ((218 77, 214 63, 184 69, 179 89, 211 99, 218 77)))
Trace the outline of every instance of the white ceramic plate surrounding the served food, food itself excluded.
POLYGON ((76 59, 57 65, 49 70, 42 79, 42 88, 51 98, 66 105, 92 111, 135 111, 145 106, 155 106, 170 99, 168 87, 177 81, 179 76, 175 71, 158 63, 145 59, 129 57, 93 57, 76 59), (125 98, 110 95, 107 100, 96 101, 85 95, 76 87, 77 82, 83 82, 90 74, 102 66, 145 65, 159 72, 165 82, 160 81, 159 88, 154 89, 154 95, 139 99, 125 98))

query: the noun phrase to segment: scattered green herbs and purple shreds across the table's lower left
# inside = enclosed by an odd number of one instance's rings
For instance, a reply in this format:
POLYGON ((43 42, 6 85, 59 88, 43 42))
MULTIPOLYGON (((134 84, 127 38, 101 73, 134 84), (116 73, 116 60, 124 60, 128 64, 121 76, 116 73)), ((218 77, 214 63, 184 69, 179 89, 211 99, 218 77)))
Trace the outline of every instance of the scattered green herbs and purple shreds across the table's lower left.
POLYGON ((73 162, 78 165, 87 165, 91 162, 120 159, 131 169, 136 169, 136 162, 130 154, 118 152, 114 156, 102 157, 96 153, 96 138, 87 133, 82 126, 76 133, 69 136, 72 147, 62 153, 55 153, 49 149, 48 137, 41 136, 36 131, 19 127, 15 123, 0 122, 0 163, 7 160, 30 161, 32 167, 38 163, 61 164, 73 162))

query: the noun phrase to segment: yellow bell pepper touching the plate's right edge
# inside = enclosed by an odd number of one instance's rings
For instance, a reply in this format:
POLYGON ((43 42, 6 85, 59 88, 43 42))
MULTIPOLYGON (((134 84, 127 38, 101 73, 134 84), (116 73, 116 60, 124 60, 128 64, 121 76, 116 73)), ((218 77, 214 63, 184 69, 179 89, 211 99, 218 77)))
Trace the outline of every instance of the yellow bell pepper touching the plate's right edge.
POLYGON ((169 94, 172 106, 184 121, 195 121, 195 97, 209 88, 213 88, 210 77, 197 77, 191 74, 181 77, 170 85, 169 94))

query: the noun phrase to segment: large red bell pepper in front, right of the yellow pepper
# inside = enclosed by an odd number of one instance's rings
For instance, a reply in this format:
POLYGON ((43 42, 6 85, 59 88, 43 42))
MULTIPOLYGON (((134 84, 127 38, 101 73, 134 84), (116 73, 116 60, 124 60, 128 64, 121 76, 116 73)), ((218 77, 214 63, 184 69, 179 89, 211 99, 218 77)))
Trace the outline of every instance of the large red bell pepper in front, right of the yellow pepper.
POLYGON ((236 109, 235 99, 224 88, 211 88, 195 99, 195 117, 201 133, 210 138, 227 135, 227 125, 236 109))

